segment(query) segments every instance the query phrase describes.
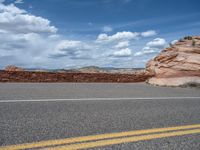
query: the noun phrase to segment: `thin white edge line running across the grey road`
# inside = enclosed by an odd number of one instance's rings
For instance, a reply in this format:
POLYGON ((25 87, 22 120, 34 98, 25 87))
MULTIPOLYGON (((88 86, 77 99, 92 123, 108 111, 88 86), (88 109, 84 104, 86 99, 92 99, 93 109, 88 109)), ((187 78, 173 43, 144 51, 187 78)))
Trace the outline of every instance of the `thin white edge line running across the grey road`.
POLYGON ((70 98, 70 99, 23 99, 23 100, 0 100, 0 103, 16 102, 56 102, 56 101, 107 101, 107 100, 167 100, 167 99, 199 99, 200 97, 128 97, 128 98, 70 98))

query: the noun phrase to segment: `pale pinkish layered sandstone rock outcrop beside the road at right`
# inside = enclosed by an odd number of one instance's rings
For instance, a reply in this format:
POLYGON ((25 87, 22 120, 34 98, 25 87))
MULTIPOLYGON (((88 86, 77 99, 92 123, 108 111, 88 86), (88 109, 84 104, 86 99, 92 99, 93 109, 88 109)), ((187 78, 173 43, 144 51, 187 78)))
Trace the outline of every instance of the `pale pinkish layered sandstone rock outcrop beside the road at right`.
POLYGON ((162 86, 200 83, 200 36, 186 37, 150 60, 146 70, 154 77, 147 82, 162 86))

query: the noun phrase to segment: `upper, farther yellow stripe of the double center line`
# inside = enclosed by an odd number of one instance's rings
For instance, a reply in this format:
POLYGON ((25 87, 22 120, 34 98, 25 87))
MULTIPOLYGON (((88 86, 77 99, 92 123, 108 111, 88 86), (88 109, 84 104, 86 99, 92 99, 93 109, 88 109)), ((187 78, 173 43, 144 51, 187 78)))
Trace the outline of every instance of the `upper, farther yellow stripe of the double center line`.
POLYGON ((72 144, 72 143, 77 143, 77 142, 88 142, 88 141, 92 141, 92 140, 103 140, 103 139, 118 138, 118 137, 124 137, 124 136, 134 136, 134 135, 141 135, 141 134, 168 132, 168 131, 194 129, 194 128, 200 128, 200 124, 167 127, 167 128, 155 128, 155 129, 146 129, 146 130, 135 130, 135 131, 108 133, 108 134, 99 134, 99 135, 90 135, 90 136, 82 136, 82 137, 75 137, 75 138, 58 139, 58 140, 40 141, 40 142, 34 142, 34 143, 25 143, 25 144, 4 146, 4 147, 0 147, 0 150, 21 150, 21 149, 39 148, 39 147, 47 147, 47 146, 72 144))

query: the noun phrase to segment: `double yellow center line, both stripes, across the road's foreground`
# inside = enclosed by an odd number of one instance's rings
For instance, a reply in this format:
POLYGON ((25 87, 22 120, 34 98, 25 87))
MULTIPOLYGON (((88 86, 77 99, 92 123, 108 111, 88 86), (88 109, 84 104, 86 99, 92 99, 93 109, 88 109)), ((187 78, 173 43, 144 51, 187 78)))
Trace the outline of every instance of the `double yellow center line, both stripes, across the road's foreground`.
POLYGON ((200 134, 200 124, 41 141, 0 147, 0 150, 24 150, 32 148, 78 150, 188 134, 200 134))

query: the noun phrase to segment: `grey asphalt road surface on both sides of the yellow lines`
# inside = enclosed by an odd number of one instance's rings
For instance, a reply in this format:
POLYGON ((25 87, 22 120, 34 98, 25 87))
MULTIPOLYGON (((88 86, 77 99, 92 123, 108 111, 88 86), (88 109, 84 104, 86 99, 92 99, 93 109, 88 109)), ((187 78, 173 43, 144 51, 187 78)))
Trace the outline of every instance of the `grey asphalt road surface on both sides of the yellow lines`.
MULTIPOLYGON (((1 146, 192 124, 200 124, 199 89, 144 83, 0 84, 1 146)), ((93 149, 198 150, 200 134, 93 149)))

